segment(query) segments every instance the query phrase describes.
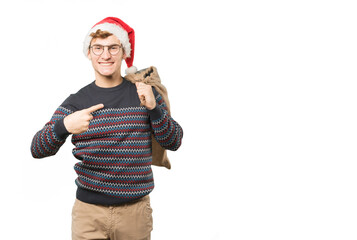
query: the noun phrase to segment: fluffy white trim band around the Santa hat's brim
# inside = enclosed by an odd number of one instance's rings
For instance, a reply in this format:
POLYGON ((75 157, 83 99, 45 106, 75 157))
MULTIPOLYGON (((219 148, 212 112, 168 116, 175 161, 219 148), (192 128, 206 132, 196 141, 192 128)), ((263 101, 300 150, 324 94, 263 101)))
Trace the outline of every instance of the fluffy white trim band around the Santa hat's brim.
POLYGON ((96 25, 88 32, 83 42, 83 53, 86 57, 88 55, 89 44, 92 41, 92 37, 90 36, 90 34, 96 32, 98 29, 114 34, 119 39, 120 43, 123 45, 126 56, 130 57, 131 44, 129 42, 128 33, 120 26, 112 23, 102 23, 96 25))

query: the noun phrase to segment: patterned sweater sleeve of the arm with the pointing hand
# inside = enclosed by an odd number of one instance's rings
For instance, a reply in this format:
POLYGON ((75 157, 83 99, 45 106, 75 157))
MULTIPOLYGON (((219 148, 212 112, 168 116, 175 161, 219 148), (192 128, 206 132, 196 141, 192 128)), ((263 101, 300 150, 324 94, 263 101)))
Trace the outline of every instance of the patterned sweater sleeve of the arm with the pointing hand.
POLYGON ((63 119, 72 112, 74 111, 62 104, 56 109, 51 120, 35 134, 31 143, 31 154, 34 158, 52 156, 58 152, 70 135, 63 119))

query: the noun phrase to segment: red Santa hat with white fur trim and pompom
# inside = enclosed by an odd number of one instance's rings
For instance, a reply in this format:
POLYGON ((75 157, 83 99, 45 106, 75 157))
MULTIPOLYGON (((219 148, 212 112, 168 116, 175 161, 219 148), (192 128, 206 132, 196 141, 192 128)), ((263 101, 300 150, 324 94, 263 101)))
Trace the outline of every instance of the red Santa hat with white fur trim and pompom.
POLYGON ((134 61, 134 47, 135 47, 135 33, 125 22, 115 17, 107 17, 102 21, 95 24, 92 29, 88 32, 84 39, 83 52, 84 55, 88 55, 88 49, 90 42, 92 41, 91 33, 95 33, 98 29, 102 31, 107 31, 116 36, 120 43, 124 47, 126 54, 125 62, 128 68, 125 70, 126 74, 135 73, 137 71, 136 67, 133 66, 134 61))

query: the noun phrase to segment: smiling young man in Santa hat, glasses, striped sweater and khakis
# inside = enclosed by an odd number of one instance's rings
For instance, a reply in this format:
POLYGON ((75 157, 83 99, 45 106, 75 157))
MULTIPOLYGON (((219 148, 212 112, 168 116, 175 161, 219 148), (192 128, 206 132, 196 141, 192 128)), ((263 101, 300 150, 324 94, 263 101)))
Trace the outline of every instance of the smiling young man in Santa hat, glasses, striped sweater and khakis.
POLYGON ((103 19, 86 36, 84 52, 95 81, 58 107, 34 136, 32 155, 56 154, 73 134, 73 155, 80 162, 74 167, 72 239, 150 239, 151 135, 165 149, 177 150, 183 131, 153 87, 121 76, 123 59, 129 72, 136 71, 131 27, 118 18, 103 19))

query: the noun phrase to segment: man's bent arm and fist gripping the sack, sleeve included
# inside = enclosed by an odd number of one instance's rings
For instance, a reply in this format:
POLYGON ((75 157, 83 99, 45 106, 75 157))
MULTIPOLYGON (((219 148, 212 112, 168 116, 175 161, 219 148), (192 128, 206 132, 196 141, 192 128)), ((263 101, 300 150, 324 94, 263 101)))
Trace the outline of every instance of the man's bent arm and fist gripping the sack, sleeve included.
POLYGON ((162 96, 149 85, 137 83, 139 97, 145 97, 145 107, 150 114, 151 127, 156 141, 165 149, 176 151, 181 146, 183 130, 169 115, 162 96))

